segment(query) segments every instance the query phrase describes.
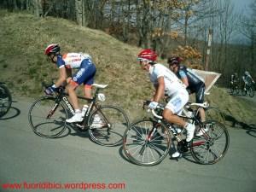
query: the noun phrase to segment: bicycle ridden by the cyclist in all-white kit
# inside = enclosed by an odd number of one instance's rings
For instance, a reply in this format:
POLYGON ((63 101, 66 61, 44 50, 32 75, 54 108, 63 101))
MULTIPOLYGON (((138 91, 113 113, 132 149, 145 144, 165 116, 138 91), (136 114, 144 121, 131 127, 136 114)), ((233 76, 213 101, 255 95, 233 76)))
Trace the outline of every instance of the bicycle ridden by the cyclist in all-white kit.
MULTIPOLYGON (((143 107, 149 102, 144 102, 143 107)), ((185 140, 185 130, 179 132, 174 125, 166 122, 161 116, 164 108, 159 105, 151 110, 153 117, 139 119, 132 123, 124 134, 124 151, 132 163, 139 166, 154 166, 166 158, 171 143, 177 151, 185 154, 188 151, 196 162, 211 165, 218 162, 226 154, 230 137, 224 125, 215 120, 202 123, 199 118, 199 107, 207 108, 206 103, 188 103, 183 108, 183 119, 195 123, 195 135, 201 131, 201 136, 195 136, 189 143, 185 140), (196 109, 193 109, 193 106, 196 109), (207 129, 206 129, 207 127, 207 129)))

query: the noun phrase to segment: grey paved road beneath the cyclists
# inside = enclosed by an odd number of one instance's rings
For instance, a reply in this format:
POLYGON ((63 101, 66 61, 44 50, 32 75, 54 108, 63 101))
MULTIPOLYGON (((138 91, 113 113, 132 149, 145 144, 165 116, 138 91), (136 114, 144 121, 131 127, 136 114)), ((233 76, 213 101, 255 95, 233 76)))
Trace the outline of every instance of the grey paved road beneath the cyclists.
MULTIPOLYGON (((228 154, 216 165, 201 166, 193 160, 166 158, 158 166, 143 167, 128 162, 120 146, 99 146, 90 141, 87 133, 70 130, 58 139, 36 136, 27 122, 30 104, 28 100, 15 102, 6 119, 0 119, 0 191, 27 191, 24 187, 28 183, 51 183, 58 187, 59 183, 83 182, 125 183, 125 189, 87 191, 253 192, 256 189, 253 131, 229 129, 228 154), (22 184, 15 185, 21 189, 3 189, 7 183, 22 184)), ((83 185, 76 187, 80 186, 83 185)))

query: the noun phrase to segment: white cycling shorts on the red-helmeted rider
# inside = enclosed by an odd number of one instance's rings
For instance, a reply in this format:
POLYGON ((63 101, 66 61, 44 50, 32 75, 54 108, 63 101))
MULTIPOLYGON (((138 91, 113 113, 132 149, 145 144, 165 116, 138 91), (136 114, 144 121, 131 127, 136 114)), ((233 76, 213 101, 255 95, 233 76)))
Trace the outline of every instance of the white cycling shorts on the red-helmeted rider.
POLYGON ((169 102, 166 104, 166 108, 172 111, 174 114, 181 113, 184 105, 189 102, 189 93, 187 90, 180 90, 174 95, 170 96, 169 102))

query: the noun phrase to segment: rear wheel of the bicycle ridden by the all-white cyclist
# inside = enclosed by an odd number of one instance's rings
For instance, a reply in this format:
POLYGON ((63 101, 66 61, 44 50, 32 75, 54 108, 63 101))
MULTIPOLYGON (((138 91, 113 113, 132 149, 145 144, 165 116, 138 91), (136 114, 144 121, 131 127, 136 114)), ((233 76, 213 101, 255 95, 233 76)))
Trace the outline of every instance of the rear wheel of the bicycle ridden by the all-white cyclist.
POLYGON ((230 136, 226 127, 218 121, 207 121, 208 131, 201 137, 194 137, 190 143, 190 152, 200 164, 212 165, 221 160, 230 145, 230 136))

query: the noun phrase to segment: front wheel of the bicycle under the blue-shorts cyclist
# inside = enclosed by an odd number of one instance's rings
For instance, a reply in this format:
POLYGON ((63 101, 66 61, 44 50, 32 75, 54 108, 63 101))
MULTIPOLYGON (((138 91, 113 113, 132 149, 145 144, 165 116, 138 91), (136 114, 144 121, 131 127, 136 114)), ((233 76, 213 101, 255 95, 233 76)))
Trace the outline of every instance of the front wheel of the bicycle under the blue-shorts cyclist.
POLYGON ((54 138, 60 136, 66 130, 67 109, 60 102, 48 118, 54 107, 55 97, 51 96, 41 97, 32 103, 28 112, 28 121, 32 131, 38 136, 54 138))

